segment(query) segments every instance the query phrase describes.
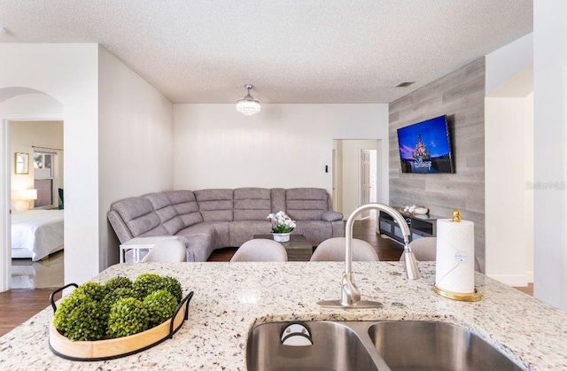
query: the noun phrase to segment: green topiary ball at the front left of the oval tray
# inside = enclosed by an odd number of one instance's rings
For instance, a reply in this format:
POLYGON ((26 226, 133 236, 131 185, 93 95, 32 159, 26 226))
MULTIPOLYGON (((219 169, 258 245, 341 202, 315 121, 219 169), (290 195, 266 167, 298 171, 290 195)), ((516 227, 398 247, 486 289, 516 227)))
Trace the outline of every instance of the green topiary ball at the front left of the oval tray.
POLYGON ((53 324, 71 340, 100 340, 105 336, 105 313, 101 305, 84 292, 76 292, 58 306, 53 324))

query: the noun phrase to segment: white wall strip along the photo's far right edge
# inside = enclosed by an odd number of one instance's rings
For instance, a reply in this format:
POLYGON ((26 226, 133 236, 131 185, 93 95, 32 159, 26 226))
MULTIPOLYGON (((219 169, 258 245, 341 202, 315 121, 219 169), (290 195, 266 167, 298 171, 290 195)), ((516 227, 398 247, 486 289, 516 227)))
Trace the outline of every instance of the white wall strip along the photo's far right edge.
POLYGON ((567 2, 533 2, 534 296, 567 310, 567 2))

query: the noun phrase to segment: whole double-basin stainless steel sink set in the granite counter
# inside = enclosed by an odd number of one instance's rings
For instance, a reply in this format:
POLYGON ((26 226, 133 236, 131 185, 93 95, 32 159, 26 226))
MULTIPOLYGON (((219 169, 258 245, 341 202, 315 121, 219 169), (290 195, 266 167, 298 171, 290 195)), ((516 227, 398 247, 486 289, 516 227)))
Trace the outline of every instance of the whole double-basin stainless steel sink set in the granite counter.
MULTIPOLYGON (((284 328, 252 328, 248 370, 522 370, 466 328, 428 321, 306 321, 303 346, 289 345, 284 328), (305 341, 305 338, 308 341, 305 341), (285 339, 283 341, 283 339, 285 339)), ((303 336, 303 337, 302 337, 303 336)))

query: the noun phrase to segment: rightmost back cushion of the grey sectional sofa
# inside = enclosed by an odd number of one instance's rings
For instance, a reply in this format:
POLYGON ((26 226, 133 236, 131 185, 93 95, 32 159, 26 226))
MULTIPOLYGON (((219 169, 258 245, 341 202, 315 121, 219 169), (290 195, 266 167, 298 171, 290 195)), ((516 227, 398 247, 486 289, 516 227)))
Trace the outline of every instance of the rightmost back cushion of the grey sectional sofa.
POLYGON ((322 220, 329 210, 327 190, 294 188, 285 192, 287 214, 293 220, 322 220))

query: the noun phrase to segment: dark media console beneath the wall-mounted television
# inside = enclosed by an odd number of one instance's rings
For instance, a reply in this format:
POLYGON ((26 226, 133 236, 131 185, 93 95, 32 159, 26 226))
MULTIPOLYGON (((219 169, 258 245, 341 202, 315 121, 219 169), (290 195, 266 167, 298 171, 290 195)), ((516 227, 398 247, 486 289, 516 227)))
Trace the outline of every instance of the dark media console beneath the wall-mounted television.
MULTIPOLYGON (((437 236, 437 220, 446 219, 444 217, 431 214, 400 214, 404 217, 409 227, 409 242, 421 237, 437 236)), ((398 223, 387 213, 380 212, 378 233, 380 235, 388 236, 399 243, 404 243, 404 237, 401 234, 400 226, 398 226, 398 223)))

